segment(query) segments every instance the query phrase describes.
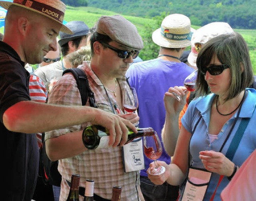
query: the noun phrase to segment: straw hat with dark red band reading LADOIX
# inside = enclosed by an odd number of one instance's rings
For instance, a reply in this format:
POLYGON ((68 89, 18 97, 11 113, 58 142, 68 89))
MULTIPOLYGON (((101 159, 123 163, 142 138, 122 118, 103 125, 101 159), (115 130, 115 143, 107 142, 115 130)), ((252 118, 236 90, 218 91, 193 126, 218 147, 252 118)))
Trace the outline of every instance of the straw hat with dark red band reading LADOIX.
MULTIPOLYGON (((11 5, 20 6, 28 10, 44 15, 59 24, 64 20, 66 5, 60 0, 14 0, 13 2, 0 1, 0 6, 8 10, 11 5)), ((73 32, 62 24, 60 31, 68 34, 73 32)))

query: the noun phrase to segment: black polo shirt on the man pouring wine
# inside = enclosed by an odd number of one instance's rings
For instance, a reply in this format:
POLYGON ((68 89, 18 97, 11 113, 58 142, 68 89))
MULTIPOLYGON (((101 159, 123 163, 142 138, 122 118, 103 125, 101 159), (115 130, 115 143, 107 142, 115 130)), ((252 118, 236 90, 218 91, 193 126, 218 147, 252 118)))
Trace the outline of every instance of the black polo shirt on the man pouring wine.
POLYGON ((6 109, 20 101, 30 100, 29 78, 29 72, 24 68, 24 62, 20 60, 17 52, 0 41, 2 200, 31 201, 36 186, 39 161, 36 135, 12 132, 3 124, 6 109))

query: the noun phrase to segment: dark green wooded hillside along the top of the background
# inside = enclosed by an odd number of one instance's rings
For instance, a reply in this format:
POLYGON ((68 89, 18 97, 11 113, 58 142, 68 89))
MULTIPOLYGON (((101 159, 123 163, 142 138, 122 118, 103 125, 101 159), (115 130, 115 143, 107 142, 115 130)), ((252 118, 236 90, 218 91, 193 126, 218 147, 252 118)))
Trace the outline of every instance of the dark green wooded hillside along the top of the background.
POLYGON ((197 26, 219 21, 232 28, 256 29, 256 0, 92 0, 88 6, 148 18, 180 13, 197 26))

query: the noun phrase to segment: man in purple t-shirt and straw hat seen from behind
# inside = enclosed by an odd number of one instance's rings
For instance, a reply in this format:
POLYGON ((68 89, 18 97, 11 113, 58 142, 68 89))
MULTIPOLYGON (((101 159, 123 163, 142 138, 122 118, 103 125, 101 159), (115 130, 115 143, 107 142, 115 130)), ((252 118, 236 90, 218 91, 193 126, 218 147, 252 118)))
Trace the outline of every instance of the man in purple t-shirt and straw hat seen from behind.
MULTIPOLYGON (((180 56, 187 46, 191 45, 190 19, 182 14, 171 14, 164 18, 161 28, 152 34, 152 40, 160 46, 158 58, 132 64, 126 73, 129 82, 136 88, 139 101, 140 127, 153 127, 159 135, 164 125, 166 110, 164 107, 164 94, 170 87, 183 85, 184 79, 193 72, 193 69, 180 62, 180 56), (154 108, 154 109, 152 109, 154 108)), ((172 139, 174 145, 177 137, 172 139)), ((162 145, 163 146, 163 145, 162 145)), ((164 146, 163 146, 164 147, 164 146)), ((165 147, 160 160, 170 163, 170 156, 174 150, 165 147)), ((152 162, 144 157, 146 169, 152 162)), ((146 200, 176 200, 178 187, 168 185, 154 185, 147 176, 146 169, 140 172, 140 185, 146 200), (153 191, 153 189, 155 189, 153 191), (167 192, 167 195, 163 192, 167 192)))

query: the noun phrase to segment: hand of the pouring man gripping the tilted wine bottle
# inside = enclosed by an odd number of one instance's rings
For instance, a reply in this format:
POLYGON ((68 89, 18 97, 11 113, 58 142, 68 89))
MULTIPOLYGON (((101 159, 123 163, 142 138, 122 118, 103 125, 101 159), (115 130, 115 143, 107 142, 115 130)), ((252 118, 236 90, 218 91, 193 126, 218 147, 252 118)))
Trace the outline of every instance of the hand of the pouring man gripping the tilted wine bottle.
POLYGON ((129 127, 134 133, 137 133, 136 127, 127 119, 121 118, 118 115, 103 111, 101 109, 95 110, 95 118, 91 121, 92 124, 102 125, 109 130, 110 141, 109 145, 116 147, 124 145, 128 139, 129 127))

